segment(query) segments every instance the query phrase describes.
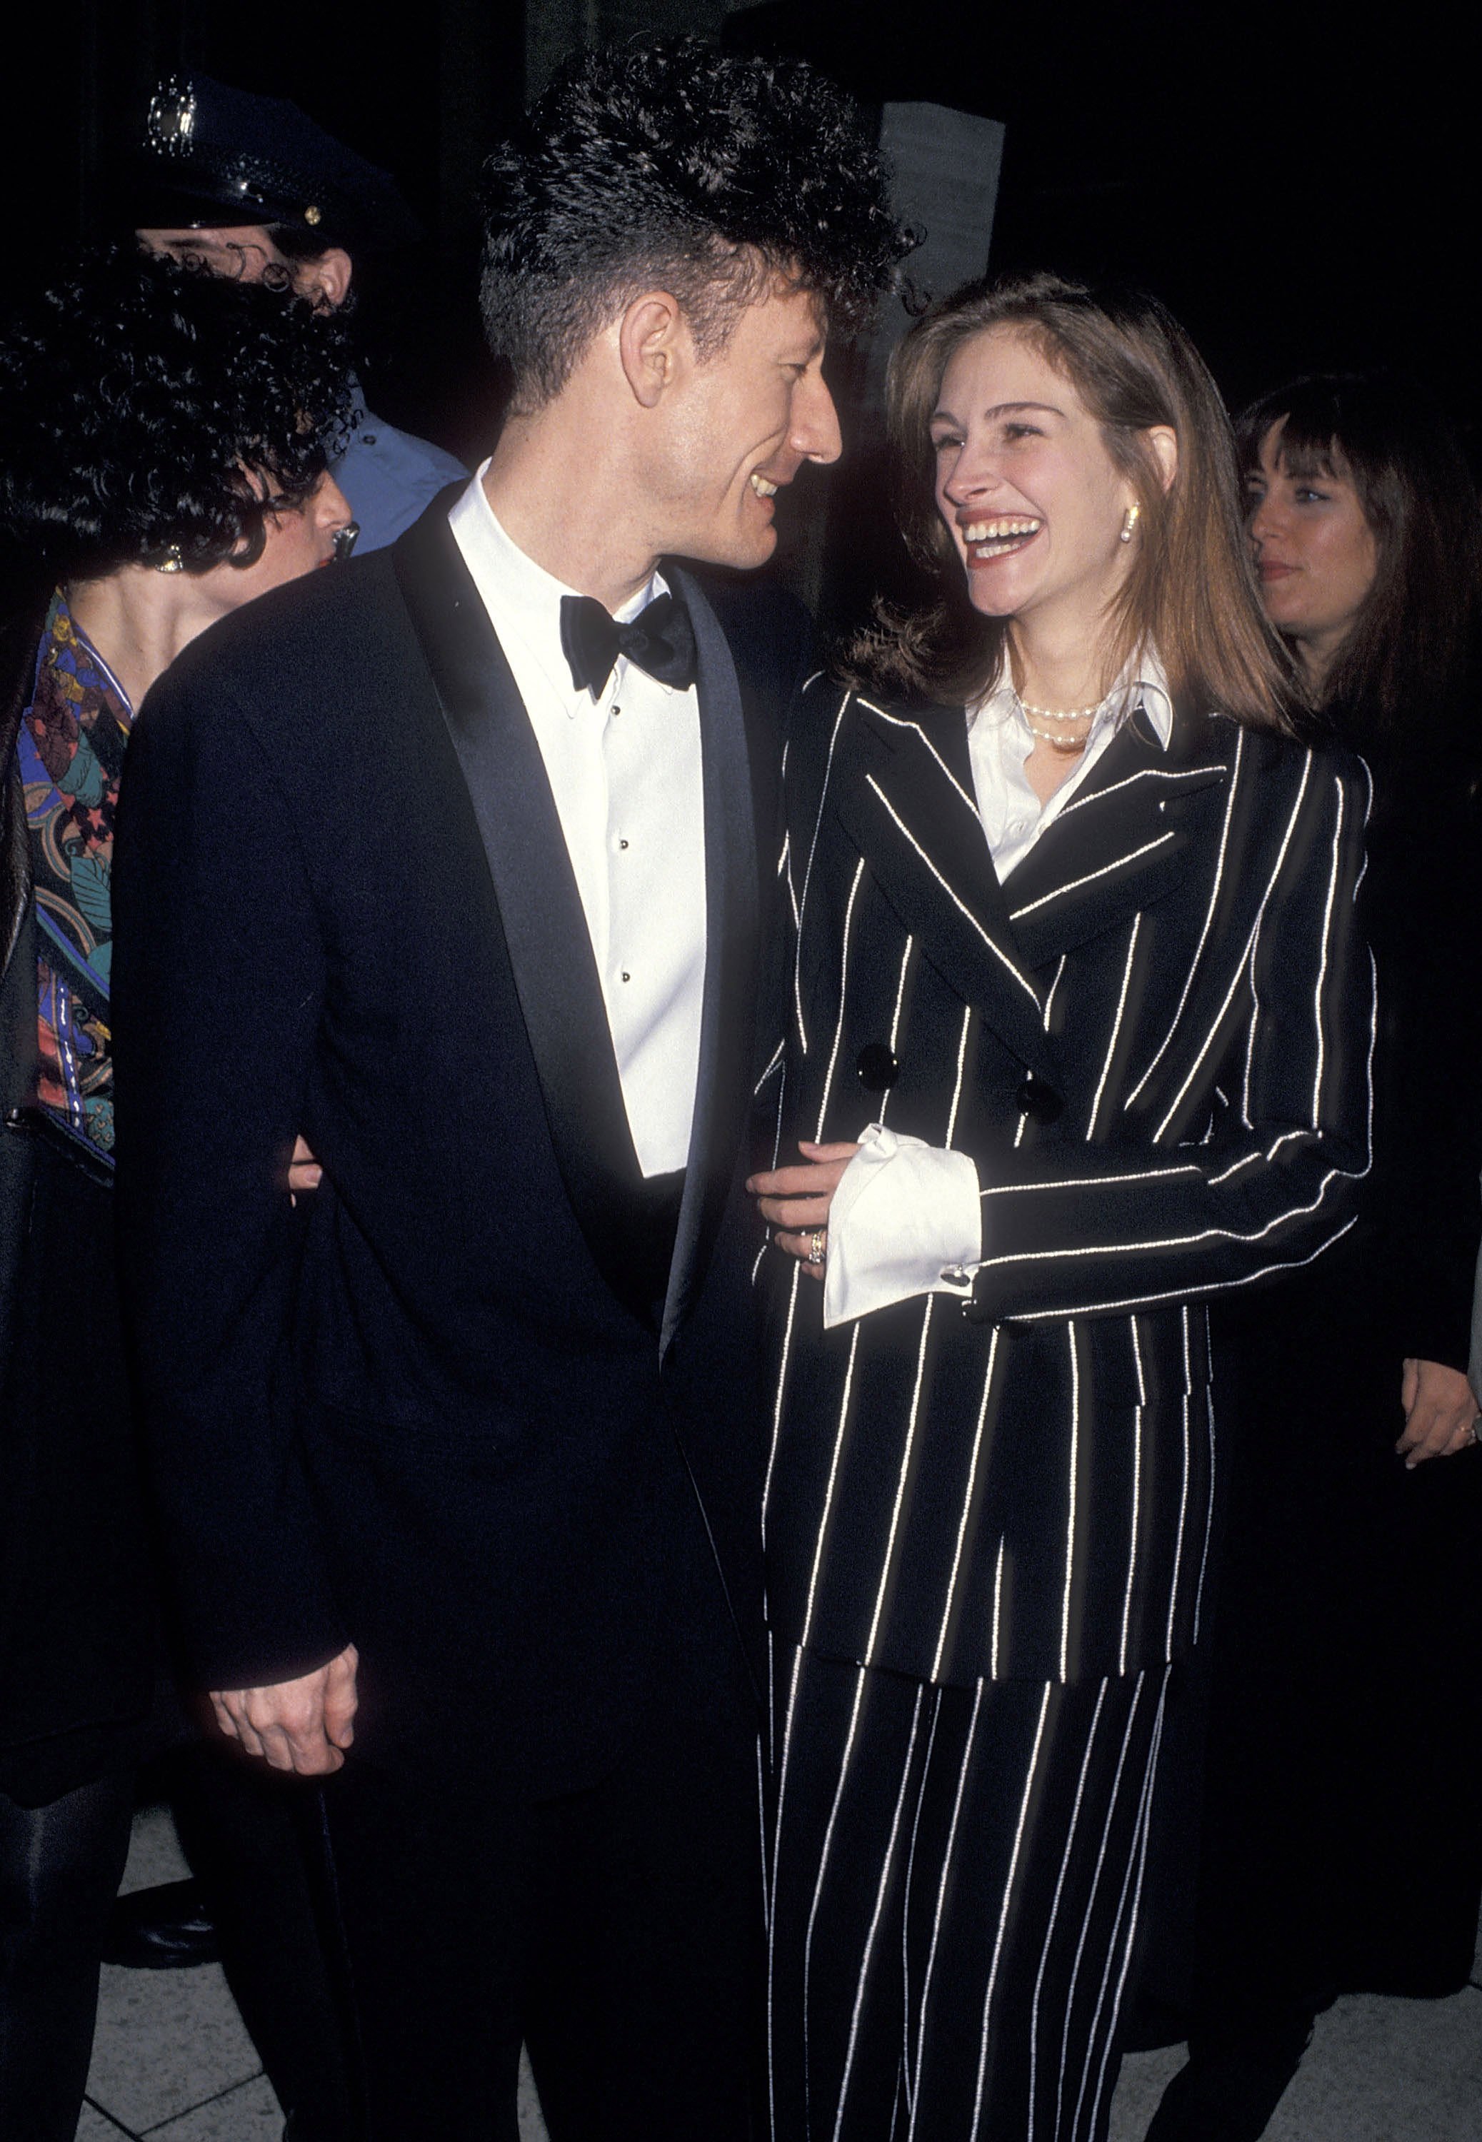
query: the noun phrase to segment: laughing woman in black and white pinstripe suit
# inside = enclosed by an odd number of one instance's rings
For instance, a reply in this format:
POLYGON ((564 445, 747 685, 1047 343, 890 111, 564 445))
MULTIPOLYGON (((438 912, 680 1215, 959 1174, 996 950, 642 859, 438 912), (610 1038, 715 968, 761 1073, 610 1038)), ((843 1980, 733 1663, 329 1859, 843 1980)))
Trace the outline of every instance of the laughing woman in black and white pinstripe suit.
POLYGON ((1368 1165, 1366 780, 1285 733, 1156 304, 962 291, 891 422, 940 606, 790 743, 752 1185, 773 2123, 1086 2142, 1204 1609, 1206 1304, 1319 1255, 1368 1165))

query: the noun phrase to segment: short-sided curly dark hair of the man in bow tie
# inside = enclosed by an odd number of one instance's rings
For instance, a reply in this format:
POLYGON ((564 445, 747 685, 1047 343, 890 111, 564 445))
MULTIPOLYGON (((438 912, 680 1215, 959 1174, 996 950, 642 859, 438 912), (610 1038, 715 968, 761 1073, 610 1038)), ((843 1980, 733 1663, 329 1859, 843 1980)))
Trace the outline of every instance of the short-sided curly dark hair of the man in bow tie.
POLYGON ((540 407, 645 289, 711 356, 777 274, 861 323, 910 242, 857 107, 803 60, 583 51, 484 167, 484 330, 540 407))

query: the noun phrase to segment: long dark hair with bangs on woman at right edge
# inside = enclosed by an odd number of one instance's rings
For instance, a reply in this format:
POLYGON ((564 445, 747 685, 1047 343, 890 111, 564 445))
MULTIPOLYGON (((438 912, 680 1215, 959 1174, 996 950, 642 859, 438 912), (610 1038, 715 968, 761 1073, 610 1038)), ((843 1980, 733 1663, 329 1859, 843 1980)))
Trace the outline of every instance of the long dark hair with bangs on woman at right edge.
POLYGON ((1424 390, 1388 373, 1319 373, 1251 403, 1236 424, 1246 476, 1272 431, 1287 476, 1354 484, 1379 553, 1324 679, 1326 726, 1373 752, 1461 722, 1476 756, 1482 510, 1456 431, 1424 390))

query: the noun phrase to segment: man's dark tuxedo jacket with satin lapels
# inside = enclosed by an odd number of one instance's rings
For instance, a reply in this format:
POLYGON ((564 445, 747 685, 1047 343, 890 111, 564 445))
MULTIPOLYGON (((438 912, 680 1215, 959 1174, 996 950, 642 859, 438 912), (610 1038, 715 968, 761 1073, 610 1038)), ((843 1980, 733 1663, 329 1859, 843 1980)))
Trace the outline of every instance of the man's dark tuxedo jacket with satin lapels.
POLYGON ((677 1611, 690 1474, 756 1624, 743 1127, 805 617, 741 587, 722 625, 666 565, 698 638, 707 968, 655 1317, 580 897, 445 508, 216 625, 139 715, 114 895, 122 1262, 201 1679, 283 1679, 353 1641, 373 1746, 486 1726, 482 1759, 570 1778, 677 1611), (291 1210, 298 1131, 326 1180, 291 1210))

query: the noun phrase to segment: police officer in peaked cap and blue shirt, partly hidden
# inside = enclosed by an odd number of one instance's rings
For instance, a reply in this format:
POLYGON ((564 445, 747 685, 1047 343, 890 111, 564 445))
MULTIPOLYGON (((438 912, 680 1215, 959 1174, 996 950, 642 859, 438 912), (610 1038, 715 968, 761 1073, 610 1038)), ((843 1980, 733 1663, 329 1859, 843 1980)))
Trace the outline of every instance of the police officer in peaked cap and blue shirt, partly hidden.
MULTIPOLYGON (((154 253, 201 259, 218 274, 283 276, 317 304, 351 293, 356 253, 418 238, 396 182, 356 156, 298 105, 251 96, 210 75, 154 92, 137 152, 133 223, 154 253)), ((394 542, 467 469, 366 409, 334 480, 360 527, 358 550, 394 542)))

